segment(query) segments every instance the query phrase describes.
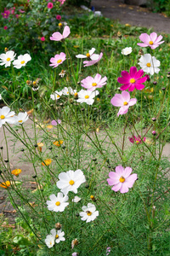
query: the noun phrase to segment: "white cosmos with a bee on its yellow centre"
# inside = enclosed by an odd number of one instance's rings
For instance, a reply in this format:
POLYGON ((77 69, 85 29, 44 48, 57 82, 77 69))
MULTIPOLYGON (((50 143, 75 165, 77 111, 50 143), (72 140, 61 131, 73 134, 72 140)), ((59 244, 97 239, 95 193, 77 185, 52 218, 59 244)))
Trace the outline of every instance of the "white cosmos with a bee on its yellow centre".
POLYGON ((88 207, 84 206, 82 207, 82 211, 80 212, 80 216, 82 217, 82 220, 86 220, 86 222, 93 221, 94 218, 99 216, 99 211, 96 211, 96 207, 92 203, 88 203, 88 207))

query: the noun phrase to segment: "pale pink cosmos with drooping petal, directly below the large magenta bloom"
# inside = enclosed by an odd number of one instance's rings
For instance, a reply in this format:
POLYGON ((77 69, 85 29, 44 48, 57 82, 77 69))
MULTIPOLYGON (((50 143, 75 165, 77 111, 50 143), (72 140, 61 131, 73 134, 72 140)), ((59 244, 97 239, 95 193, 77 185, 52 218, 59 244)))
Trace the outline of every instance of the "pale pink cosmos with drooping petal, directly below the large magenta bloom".
POLYGON ((116 94, 111 99, 111 104, 113 106, 121 107, 119 109, 119 112, 117 113, 117 116, 119 116, 120 114, 127 113, 128 108, 136 104, 136 102, 136 98, 130 99, 130 94, 127 91, 122 91, 122 94, 116 94))

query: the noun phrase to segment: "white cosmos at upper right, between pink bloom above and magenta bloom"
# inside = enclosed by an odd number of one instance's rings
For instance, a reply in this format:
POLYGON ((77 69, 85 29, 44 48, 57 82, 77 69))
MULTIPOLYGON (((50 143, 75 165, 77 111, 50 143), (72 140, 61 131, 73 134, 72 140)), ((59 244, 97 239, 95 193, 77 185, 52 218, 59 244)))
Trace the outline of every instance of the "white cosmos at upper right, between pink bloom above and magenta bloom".
POLYGON ((142 55, 139 59, 139 66, 146 73, 153 75, 154 73, 159 73, 160 71, 160 61, 156 60, 156 57, 152 57, 150 54, 142 55))

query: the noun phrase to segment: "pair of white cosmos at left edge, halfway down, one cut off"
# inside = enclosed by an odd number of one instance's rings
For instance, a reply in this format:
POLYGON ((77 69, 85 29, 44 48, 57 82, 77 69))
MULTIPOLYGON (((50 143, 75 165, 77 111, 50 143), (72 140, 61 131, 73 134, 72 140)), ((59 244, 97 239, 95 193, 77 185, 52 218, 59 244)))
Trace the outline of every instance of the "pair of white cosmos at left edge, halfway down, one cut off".
POLYGON ((0 108, 0 127, 5 123, 12 124, 12 125, 21 125, 28 119, 28 114, 25 113, 18 113, 15 115, 14 111, 10 111, 10 108, 3 107, 0 108))

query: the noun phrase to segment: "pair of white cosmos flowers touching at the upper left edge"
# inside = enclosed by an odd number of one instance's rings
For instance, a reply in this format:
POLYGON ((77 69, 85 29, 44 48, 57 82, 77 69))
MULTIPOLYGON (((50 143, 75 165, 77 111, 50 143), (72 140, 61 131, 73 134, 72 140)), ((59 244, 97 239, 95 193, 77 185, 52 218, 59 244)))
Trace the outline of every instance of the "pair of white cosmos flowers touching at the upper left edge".
POLYGON ((31 55, 25 54, 25 55, 19 55, 17 60, 14 60, 16 54, 14 53, 14 50, 8 50, 5 54, 0 55, 0 65, 5 67, 10 67, 12 61, 13 66, 17 69, 20 69, 20 67, 26 66, 26 63, 28 61, 31 61, 31 55))

